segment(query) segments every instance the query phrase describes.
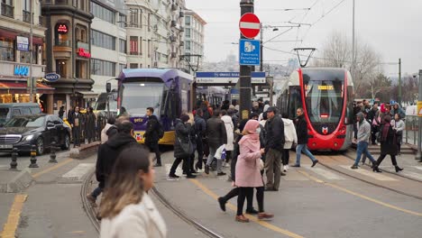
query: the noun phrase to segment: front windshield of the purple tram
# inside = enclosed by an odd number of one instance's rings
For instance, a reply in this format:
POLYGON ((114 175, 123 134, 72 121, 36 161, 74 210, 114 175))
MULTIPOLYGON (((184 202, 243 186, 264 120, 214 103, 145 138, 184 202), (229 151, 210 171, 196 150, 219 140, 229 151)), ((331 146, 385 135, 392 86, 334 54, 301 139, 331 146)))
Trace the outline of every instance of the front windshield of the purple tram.
POLYGON ((130 116, 144 116, 146 108, 151 106, 154 114, 159 116, 163 91, 163 83, 124 83, 121 87, 121 110, 130 116))

